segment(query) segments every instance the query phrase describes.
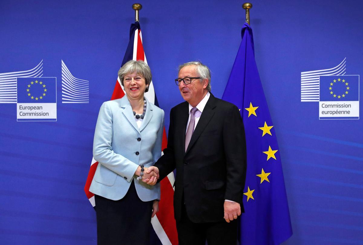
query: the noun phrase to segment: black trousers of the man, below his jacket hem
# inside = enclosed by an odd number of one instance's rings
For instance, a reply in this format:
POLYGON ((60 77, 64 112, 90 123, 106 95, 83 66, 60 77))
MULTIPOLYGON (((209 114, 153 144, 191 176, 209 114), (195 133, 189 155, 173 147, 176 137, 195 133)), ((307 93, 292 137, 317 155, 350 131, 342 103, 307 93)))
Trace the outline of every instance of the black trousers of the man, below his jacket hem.
POLYGON ((206 240, 208 245, 236 245, 239 221, 238 217, 230 223, 224 219, 221 222, 193 223, 183 205, 181 220, 176 222, 179 245, 205 245, 206 240))

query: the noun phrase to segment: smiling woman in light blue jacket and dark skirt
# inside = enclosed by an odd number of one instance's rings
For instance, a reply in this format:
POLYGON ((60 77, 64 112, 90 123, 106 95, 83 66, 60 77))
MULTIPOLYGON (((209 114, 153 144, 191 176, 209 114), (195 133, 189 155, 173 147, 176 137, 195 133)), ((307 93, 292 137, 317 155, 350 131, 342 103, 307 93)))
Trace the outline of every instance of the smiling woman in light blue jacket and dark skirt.
POLYGON ((146 63, 131 60, 118 76, 126 96, 102 104, 93 141, 97 243, 147 244, 160 185, 146 169, 161 156, 164 111, 144 98, 151 82, 146 63))

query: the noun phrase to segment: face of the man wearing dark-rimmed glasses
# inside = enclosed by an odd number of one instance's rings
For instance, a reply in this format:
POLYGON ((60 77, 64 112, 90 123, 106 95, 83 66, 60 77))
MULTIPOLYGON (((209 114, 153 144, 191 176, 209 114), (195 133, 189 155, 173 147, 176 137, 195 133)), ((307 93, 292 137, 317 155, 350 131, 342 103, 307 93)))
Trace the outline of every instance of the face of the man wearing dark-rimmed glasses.
MULTIPOLYGON (((178 78, 184 77, 199 77, 196 71, 195 65, 184 66, 180 69, 178 78)), ((191 83, 185 84, 181 82, 179 85, 179 91, 184 100, 189 102, 192 107, 196 107, 197 104, 204 98, 208 90, 208 79, 193 79, 191 83)))

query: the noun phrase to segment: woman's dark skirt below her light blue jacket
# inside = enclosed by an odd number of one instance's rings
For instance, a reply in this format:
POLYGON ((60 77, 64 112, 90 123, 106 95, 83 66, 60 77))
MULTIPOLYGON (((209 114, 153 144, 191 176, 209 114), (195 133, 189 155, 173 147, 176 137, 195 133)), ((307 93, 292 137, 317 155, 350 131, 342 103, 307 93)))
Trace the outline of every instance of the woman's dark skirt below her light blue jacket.
POLYGON ((121 200, 95 195, 98 245, 149 244, 152 202, 143 202, 134 181, 121 200))

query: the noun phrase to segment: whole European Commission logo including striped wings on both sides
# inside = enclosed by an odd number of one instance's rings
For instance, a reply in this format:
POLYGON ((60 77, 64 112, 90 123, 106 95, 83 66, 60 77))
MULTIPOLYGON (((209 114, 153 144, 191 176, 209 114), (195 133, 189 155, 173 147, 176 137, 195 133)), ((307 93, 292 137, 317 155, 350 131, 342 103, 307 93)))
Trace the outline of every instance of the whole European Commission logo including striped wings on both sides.
MULTIPOLYGON (((62 65, 62 103, 89 103, 89 81, 62 65)), ((16 103, 17 121, 57 121, 57 78, 43 77, 43 60, 30 70, 0 73, 0 104, 16 103)))

